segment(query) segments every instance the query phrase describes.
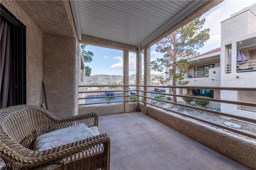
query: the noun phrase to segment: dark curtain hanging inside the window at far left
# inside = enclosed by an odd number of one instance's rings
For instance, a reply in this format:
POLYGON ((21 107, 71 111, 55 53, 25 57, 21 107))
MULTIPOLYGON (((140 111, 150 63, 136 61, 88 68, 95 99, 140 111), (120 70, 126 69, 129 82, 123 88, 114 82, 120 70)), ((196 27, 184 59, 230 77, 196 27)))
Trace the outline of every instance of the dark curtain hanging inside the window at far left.
POLYGON ((14 105, 14 68, 12 55, 12 25, 1 17, 1 108, 14 105))

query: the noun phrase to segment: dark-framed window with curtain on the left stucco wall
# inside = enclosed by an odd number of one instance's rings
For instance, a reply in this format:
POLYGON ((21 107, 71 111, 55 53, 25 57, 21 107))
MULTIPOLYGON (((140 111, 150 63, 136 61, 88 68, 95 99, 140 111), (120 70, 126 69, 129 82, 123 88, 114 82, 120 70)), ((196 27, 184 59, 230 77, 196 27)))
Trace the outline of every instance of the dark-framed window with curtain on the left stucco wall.
POLYGON ((1 4, 1 108, 26 104, 26 27, 1 4))

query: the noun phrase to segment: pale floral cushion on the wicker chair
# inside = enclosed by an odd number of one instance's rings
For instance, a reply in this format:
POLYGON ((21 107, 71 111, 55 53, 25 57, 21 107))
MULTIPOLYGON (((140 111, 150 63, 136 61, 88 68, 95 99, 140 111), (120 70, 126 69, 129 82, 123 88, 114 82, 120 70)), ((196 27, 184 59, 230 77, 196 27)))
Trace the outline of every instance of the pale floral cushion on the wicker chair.
POLYGON ((46 133, 36 138, 35 150, 48 150, 68 143, 96 136, 96 134, 83 123, 46 133))

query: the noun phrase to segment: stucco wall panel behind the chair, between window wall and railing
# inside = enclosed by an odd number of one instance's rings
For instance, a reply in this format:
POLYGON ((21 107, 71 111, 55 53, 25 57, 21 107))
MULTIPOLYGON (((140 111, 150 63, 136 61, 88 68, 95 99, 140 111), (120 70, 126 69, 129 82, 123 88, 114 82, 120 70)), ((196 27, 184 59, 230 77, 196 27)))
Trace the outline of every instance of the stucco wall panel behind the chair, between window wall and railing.
POLYGON ((79 47, 75 38, 44 33, 43 80, 48 109, 57 117, 78 114, 79 47))

